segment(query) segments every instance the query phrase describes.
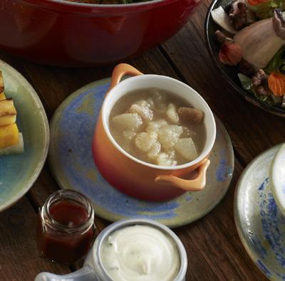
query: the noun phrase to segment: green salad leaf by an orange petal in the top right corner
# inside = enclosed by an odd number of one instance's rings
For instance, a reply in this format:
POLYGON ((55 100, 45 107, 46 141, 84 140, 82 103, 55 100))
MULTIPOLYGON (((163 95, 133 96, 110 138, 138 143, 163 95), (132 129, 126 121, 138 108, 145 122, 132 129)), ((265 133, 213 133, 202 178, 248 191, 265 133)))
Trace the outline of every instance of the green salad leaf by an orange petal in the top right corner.
POLYGON ((284 0, 269 0, 257 5, 249 5, 249 9, 254 11, 258 18, 271 18, 274 15, 274 9, 285 11, 284 0))

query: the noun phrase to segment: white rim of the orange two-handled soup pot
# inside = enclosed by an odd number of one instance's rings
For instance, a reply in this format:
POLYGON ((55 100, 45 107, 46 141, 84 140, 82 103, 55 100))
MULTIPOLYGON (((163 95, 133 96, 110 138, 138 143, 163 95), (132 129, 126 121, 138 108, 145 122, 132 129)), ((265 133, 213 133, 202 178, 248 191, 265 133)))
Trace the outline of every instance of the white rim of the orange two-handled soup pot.
MULTIPOLYGON (((125 92, 125 93, 127 93, 127 92, 125 92)), ((214 115, 213 115, 211 108, 209 107, 207 102, 204 100, 204 98, 201 95, 199 95, 199 93, 196 92, 194 89, 192 89, 189 85, 182 83, 180 80, 170 78, 170 77, 164 76, 164 75, 145 74, 145 75, 134 76, 134 77, 131 77, 131 78, 128 78, 128 79, 121 81, 120 83, 118 83, 118 85, 115 85, 115 87, 113 89, 111 89, 110 92, 108 92, 108 95, 106 95, 106 97, 103 101, 103 105, 102 105, 102 109, 101 109, 100 114, 102 116, 102 122, 103 122, 103 128, 104 128, 105 134, 107 135, 108 139, 113 144, 113 146, 119 152, 121 152, 123 155, 125 155, 125 157, 127 157, 128 159, 131 159, 131 160, 135 161, 136 163, 138 163, 142 166, 147 166, 147 167, 152 168, 152 169, 173 171, 173 170, 185 169, 185 168, 188 168, 190 166, 194 166, 195 164, 198 164, 203 159, 208 157, 209 153, 212 151, 212 148, 214 146, 214 141, 216 139, 216 122, 214 120, 214 115), (191 91, 193 93, 193 95, 196 95, 197 98, 199 99, 199 101, 202 103, 203 107, 207 110, 207 115, 209 115, 210 122, 211 122, 211 124, 209 124, 209 126, 212 125, 213 132, 212 132, 212 135, 207 136, 210 139, 209 144, 207 146, 205 144, 205 147, 203 148, 202 152, 199 154, 199 156, 196 159, 189 161, 189 162, 182 164, 182 165, 177 165, 177 166, 159 166, 159 165, 147 163, 145 161, 142 161, 138 158, 133 157, 131 154, 126 152, 122 147, 120 147, 120 145, 113 138, 112 134, 110 133, 110 129, 108 127, 108 124, 107 124, 107 122, 108 122, 107 116, 106 116, 106 114, 104 114, 104 112, 106 111, 105 108, 107 107, 109 100, 112 99, 112 97, 115 93, 115 90, 117 90, 118 87, 123 87, 123 85, 125 85, 126 83, 130 83, 132 81, 133 81, 133 83, 135 83, 135 80, 147 79, 147 78, 165 79, 165 80, 172 81, 172 83, 182 85, 182 87, 187 88, 187 90, 191 91)), ((204 112, 204 114, 206 114, 206 112, 204 112)))

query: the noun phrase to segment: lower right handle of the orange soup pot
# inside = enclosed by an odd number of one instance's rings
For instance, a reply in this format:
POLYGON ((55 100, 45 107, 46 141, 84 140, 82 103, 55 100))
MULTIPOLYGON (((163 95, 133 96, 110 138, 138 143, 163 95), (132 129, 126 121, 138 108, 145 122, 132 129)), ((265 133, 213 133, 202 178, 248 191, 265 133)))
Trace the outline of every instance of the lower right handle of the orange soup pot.
POLYGON ((171 184, 185 191, 201 191, 206 185, 206 171, 209 167, 209 159, 205 159, 197 168, 198 175, 195 179, 180 179, 177 176, 164 175, 157 176, 155 182, 171 184))

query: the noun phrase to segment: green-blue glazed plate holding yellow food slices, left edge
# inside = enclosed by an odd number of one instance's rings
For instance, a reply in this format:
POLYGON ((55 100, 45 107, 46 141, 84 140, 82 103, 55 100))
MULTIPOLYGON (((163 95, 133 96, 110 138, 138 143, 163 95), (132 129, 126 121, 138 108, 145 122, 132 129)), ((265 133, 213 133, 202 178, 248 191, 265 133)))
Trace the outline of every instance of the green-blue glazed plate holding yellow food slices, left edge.
POLYGON ((35 90, 14 68, 0 60, 6 97, 13 97, 25 152, 0 157, 0 211, 18 201, 36 181, 48 153, 46 113, 35 90))

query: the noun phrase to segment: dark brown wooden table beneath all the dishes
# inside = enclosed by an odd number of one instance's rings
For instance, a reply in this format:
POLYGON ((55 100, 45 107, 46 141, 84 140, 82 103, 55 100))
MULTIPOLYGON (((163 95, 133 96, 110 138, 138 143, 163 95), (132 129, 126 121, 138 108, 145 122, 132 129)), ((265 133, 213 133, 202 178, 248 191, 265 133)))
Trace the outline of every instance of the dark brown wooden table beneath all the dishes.
MULTIPOLYGON (((214 69, 204 43, 204 0, 187 26, 169 41, 140 58, 127 60, 142 73, 168 75, 197 90, 224 122, 235 152, 232 184, 221 203, 207 216, 175 229, 187 249, 187 280, 266 280, 245 252, 234 225, 234 188, 242 169, 265 149, 284 142, 285 120, 242 100, 214 69)), ((48 118, 73 91, 110 76, 113 66, 66 69, 28 63, 0 53, 33 85, 48 118)), ((33 280, 41 271, 63 274, 72 267, 40 258, 36 249, 36 213, 58 189, 46 164, 31 190, 0 214, 0 280, 33 280)), ((97 219, 102 230, 108 222, 97 219)))

